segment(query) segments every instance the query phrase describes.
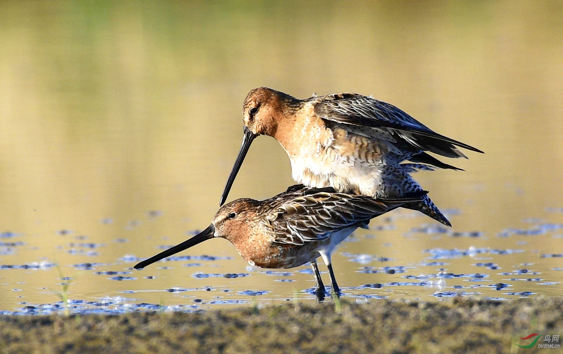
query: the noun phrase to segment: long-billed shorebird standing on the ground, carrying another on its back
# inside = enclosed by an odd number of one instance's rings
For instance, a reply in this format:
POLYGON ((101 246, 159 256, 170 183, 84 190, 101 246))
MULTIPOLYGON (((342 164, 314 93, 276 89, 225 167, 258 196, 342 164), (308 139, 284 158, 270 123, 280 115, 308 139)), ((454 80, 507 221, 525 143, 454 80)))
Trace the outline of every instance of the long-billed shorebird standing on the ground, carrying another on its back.
POLYGON ((372 198, 336 193, 333 188, 295 185, 270 199, 236 199, 222 206, 207 229, 158 255, 135 265, 141 270, 212 238, 226 238, 252 266, 292 268, 311 263, 316 280, 316 297, 325 296, 316 258, 328 267, 334 294, 340 290, 330 255, 337 244, 355 229, 366 228, 369 220, 387 211, 420 201, 426 192, 396 198, 372 198))

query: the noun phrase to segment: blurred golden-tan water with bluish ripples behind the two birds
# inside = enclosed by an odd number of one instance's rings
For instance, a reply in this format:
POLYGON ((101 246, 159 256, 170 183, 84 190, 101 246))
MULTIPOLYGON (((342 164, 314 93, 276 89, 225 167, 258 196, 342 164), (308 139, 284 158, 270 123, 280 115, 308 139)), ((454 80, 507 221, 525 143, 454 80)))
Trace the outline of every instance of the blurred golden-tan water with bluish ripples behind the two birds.
MULTIPOLYGON (((445 161, 464 172, 415 175, 452 230, 397 210, 338 249, 334 268, 349 294, 451 272, 561 296, 561 33, 560 1, 2 1, 0 309, 57 301, 55 264, 73 278, 72 298, 124 292, 173 304, 249 299, 248 289, 264 301, 312 298, 303 293, 312 275, 298 271, 308 266, 267 276, 225 240, 184 253, 222 257, 191 268, 130 270, 211 222, 240 146, 243 99, 261 86, 298 98, 373 95, 486 152, 445 161), (466 254, 427 265, 428 249, 466 254), (507 275, 519 271, 537 275, 507 275), (249 276, 198 276, 226 273, 249 276), (192 292, 164 291, 172 287, 192 292)), ((229 200, 269 198, 291 184, 283 149, 260 137, 229 200)), ((472 284, 445 285, 365 295, 431 300, 472 284)))

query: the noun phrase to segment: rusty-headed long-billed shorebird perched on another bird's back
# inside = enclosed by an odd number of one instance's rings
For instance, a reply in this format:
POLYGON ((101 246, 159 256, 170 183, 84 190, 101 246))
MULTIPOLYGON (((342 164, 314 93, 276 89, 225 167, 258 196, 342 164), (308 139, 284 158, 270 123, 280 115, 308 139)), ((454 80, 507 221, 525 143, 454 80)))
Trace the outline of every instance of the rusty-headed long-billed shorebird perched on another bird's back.
MULTIPOLYGON (((421 191, 410 176, 416 170, 461 170, 427 151, 454 158, 467 158, 458 147, 482 153, 435 133, 389 103, 355 93, 297 99, 270 88, 256 88, 244 99, 243 122, 243 142, 220 205, 258 135, 278 140, 291 160, 293 179, 298 183, 371 197, 399 197, 421 191)), ((451 226, 428 196, 404 207, 451 226)))

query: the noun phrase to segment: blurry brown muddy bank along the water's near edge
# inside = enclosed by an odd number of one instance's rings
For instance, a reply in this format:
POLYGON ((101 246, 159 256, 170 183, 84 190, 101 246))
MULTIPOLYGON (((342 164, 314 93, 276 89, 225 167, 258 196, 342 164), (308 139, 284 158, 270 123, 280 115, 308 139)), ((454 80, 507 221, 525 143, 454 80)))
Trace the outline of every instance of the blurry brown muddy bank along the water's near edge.
POLYGON ((546 353, 560 349, 522 349, 515 342, 530 344, 519 337, 531 333, 563 334, 562 315, 562 299, 460 298, 0 316, 0 353, 546 353))

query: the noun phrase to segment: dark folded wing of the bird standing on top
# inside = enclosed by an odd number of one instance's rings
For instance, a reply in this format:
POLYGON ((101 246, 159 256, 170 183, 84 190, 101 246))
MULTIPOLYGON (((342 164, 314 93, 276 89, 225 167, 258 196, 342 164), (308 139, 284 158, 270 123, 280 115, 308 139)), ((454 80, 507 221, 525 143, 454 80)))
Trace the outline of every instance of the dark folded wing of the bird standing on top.
MULTIPOLYGON (((325 120, 369 127, 377 138, 397 142, 420 151, 446 157, 466 157, 456 146, 482 152, 465 143, 435 133, 399 108, 377 99, 352 93, 324 96, 315 105, 315 114, 325 120)), ((359 131, 364 135, 365 131, 359 131)))

